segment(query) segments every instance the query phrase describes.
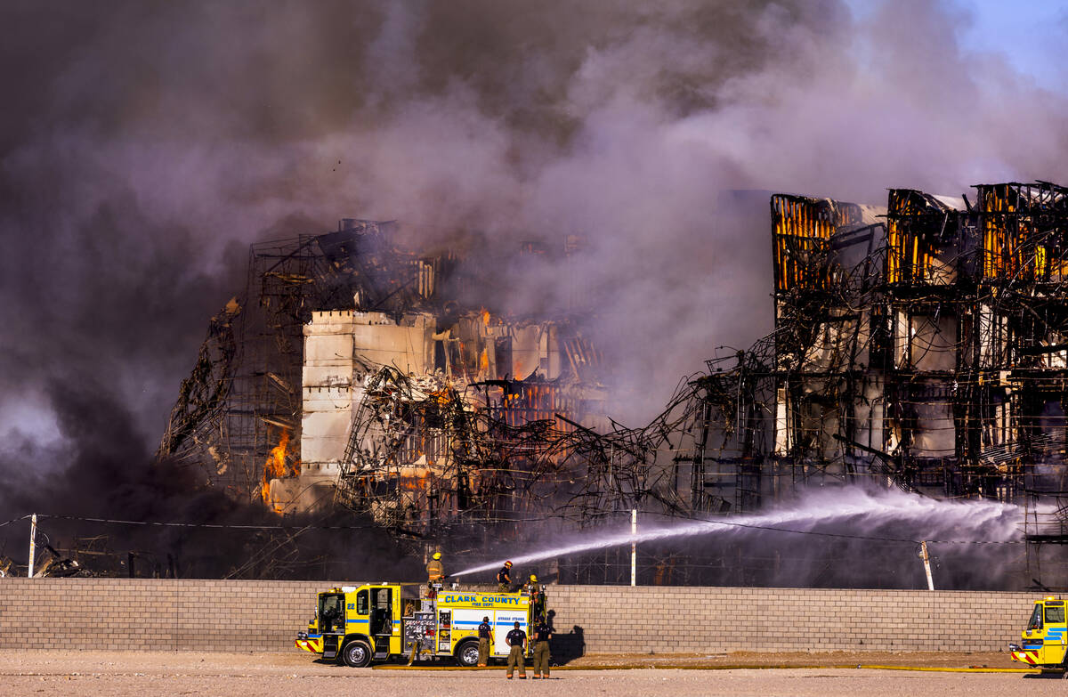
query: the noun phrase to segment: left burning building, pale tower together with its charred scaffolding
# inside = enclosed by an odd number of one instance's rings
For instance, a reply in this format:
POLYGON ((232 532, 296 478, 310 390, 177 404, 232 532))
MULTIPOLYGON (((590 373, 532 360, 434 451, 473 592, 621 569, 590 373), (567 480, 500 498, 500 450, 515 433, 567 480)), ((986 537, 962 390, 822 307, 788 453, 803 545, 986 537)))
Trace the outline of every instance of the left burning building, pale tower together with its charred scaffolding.
POLYGON ((413 536, 557 500, 561 437, 607 423, 596 346, 569 316, 464 306, 478 279, 462 259, 400 249, 395 230, 253 246, 159 456, 237 500, 336 504, 413 536))

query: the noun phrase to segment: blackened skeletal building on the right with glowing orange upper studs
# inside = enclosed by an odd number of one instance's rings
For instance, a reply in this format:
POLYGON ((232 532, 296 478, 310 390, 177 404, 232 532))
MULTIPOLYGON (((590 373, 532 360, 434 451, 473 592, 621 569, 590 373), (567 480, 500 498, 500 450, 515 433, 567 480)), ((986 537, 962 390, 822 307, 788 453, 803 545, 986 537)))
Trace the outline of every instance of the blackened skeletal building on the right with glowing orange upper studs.
POLYGON ((677 402, 692 510, 870 481, 1024 507, 1032 572, 1068 541, 1068 189, 976 189, 771 198, 774 332, 677 402))

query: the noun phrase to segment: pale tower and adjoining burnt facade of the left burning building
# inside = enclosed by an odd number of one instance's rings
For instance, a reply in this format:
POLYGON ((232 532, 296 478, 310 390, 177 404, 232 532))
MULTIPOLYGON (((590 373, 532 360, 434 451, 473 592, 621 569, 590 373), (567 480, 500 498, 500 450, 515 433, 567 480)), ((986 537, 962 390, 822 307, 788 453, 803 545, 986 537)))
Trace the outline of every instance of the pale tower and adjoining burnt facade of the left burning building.
POLYGON ((396 529, 528 512, 557 415, 603 412, 582 380, 596 351, 554 322, 487 310, 314 312, 304 326, 301 473, 274 480, 280 510, 336 500, 396 529), (440 330, 439 330, 440 329, 440 330))

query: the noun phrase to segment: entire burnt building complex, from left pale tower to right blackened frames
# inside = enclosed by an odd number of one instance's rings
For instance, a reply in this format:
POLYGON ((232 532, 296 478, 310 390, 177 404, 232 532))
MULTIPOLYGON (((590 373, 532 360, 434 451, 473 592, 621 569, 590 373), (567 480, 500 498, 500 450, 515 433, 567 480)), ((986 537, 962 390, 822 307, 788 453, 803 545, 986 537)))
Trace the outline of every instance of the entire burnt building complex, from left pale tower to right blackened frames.
POLYGON ((885 208, 772 196, 774 331, 641 429, 608 418, 581 323, 462 306, 476 279, 454 252, 357 220, 256 245, 159 454, 235 498, 334 502, 421 539, 870 481, 1020 504, 1030 540, 1062 543, 1068 189, 976 188, 892 189, 885 208))

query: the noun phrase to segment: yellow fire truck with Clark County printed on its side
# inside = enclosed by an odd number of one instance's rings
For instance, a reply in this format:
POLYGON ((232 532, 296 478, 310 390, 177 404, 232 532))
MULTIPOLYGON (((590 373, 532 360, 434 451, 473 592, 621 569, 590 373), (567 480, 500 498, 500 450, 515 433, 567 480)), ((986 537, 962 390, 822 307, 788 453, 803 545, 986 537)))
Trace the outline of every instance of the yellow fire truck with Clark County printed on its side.
POLYGON ((426 599, 415 584, 343 586, 319 593, 315 617, 296 645, 355 668, 407 655, 413 644, 423 654, 474 666, 482 618, 493 628, 491 655, 506 657, 505 635, 516 622, 530 634, 531 607, 524 592, 442 590, 426 599))

